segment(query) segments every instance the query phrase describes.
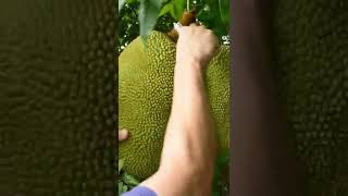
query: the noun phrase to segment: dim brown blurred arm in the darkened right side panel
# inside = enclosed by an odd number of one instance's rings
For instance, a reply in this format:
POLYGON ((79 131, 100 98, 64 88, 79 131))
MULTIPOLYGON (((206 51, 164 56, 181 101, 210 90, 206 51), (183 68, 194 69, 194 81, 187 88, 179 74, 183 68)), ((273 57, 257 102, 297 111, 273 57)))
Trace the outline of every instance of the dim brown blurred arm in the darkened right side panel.
POLYGON ((297 196, 300 181, 270 68, 266 0, 232 2, 232 195, 297 196))

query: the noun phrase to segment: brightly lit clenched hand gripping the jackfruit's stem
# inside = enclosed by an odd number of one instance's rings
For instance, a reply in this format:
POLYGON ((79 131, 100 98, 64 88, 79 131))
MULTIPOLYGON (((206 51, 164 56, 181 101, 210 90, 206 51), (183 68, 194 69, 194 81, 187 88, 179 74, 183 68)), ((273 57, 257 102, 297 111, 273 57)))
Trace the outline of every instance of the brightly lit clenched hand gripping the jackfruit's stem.
POLYGON ((206 68, 219 48, 219 39, 212 30, 192 23, 177 28, 176 64, 198 64, 206 68))

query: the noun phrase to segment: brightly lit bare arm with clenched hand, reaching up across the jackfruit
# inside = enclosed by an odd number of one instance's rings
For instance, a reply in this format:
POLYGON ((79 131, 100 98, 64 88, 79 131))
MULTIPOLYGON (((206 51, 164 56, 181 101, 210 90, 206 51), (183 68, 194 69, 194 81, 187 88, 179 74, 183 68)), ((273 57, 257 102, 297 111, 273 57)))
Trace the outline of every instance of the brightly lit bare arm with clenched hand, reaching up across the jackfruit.
POLYGON ((174 95, 159 171, 142 185, 159 195, 211 194, 215 135, 204 87, 204 69, 217 40, 203 27, 182 27, 174 95))

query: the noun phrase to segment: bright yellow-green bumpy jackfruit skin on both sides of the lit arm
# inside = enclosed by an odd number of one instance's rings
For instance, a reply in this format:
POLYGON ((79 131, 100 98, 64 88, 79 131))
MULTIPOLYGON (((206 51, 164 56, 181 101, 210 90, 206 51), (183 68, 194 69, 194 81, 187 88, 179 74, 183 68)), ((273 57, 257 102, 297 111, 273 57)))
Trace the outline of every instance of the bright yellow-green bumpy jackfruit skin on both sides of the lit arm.
MULTIPOLYGON (((175 66, 175 44, 153 30, 144 48, 140 37, 119 58, 119 128, 129 139, 120 143, 124 170, 146 179, 160 162, 165 127, 171 113, 175 66)), ((228 148, 229 138, 229 48, 224 46, 207 70, 207 88, 219 139, 228 148)))

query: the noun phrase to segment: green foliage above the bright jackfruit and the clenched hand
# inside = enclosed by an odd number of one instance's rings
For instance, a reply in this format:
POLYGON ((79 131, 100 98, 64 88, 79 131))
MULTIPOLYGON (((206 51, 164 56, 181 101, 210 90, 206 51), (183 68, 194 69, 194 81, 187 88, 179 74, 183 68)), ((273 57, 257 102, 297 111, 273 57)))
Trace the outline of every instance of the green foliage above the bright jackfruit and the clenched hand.
POLYGON ((229 0, 119 0, 119 52, 138 35, 146 39, 152 29, 169 32, 192 8, 199 22, 229 44, 229 0))

